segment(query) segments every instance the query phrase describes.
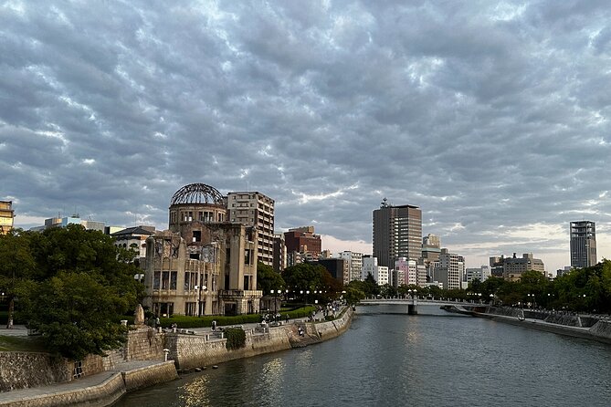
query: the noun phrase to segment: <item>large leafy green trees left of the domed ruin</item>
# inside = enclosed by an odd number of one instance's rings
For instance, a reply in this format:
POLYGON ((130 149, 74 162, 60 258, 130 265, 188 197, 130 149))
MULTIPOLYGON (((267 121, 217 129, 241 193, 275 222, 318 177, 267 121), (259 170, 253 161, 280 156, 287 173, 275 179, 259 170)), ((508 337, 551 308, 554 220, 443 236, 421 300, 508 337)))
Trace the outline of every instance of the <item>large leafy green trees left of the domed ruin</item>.
POLYGON ((103 354, 121 346, 119 319, 143 297, 133 278, 139 269, 124 252, 110 236, 77 224, 16 230, 0 236, 0 287, 49 351, 74 359, 103 354))

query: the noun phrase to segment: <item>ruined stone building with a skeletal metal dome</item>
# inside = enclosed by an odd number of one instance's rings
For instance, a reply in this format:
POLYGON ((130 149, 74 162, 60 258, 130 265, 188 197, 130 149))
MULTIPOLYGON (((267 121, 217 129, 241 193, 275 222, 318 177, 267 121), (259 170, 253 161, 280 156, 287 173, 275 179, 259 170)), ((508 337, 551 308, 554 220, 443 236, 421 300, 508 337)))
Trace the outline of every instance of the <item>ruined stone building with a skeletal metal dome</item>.
POLYGON ((157 316, 258 312, 257 230, 227 222, 226 198, 205 183, 174 193, 169 230, 146 239, 144 304, 157 316))

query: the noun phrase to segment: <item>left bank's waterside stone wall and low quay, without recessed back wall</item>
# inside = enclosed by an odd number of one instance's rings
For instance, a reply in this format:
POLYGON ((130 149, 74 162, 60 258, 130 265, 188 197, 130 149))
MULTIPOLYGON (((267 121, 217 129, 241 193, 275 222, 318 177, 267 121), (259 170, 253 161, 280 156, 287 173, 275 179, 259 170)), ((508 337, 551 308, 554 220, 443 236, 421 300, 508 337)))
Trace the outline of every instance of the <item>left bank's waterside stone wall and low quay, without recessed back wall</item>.
POLYGON ((42 387, 0 392, 0 406, 106 407, 129 391, 139 390, 163 381, 172 381, 179 372, 197 370, 227 360, 248 358, 278 350, 335 338, 345 332, 353 319, 353 309, 344 308, 340 318, 326 322, 292 321, 277 327, 245 327, 247 342, 239 350, 226 350, 226 339, 220 332, 195 331, 163 333, 168 361, 141 360, 116 363, 111 370, 74 381, 42 387), (300 335, 300 332, 302 334, 300 335))

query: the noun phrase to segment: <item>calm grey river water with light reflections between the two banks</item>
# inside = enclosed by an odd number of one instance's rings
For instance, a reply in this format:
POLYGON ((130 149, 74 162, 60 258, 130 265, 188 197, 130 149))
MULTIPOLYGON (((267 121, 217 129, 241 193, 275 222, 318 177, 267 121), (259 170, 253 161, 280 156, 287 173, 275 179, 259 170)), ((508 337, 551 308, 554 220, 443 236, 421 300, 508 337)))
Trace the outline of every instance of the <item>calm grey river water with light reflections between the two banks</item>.
POLYGON ((396 309, 357 308, 337 339, 226 362, 116 405, 611 405, 610 345, 434 307, 396 309))

